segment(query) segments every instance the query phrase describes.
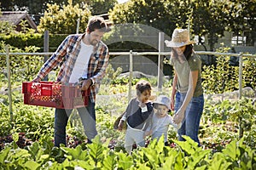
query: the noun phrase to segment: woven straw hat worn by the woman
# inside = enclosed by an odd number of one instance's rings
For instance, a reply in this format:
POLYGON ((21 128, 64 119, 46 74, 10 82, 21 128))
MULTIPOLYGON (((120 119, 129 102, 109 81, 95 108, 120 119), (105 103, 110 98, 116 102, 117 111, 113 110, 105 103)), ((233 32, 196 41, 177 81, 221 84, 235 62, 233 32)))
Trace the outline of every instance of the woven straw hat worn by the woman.
POLYGON ((169 48, 180 48, 195 43, 189 40, 189 31, 186 29, 175 29, 172 33, 172 41, 165 41, 169 48))

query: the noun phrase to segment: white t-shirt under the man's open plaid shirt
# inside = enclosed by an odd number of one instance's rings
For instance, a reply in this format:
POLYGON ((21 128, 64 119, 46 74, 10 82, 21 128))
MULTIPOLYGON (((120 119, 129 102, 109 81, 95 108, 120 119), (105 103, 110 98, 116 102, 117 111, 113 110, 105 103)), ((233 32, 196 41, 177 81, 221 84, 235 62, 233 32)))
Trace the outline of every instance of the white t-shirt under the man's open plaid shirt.
POLYGON ((87 78, 88 63, 90 55, 92 54, 93 46, 86 45, 83 41, 81 42, 81 49, 79 52, 78 59, 73 67, 69 82, 75 83, 79 81, 80 77, 87 78))

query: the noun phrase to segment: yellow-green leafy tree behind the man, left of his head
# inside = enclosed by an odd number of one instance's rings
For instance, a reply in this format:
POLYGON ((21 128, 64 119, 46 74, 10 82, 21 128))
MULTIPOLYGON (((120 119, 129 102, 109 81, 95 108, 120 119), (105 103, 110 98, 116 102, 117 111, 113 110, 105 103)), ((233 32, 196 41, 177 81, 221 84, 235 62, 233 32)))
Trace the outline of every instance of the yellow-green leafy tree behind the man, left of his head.
POLYGON ((44 32, 48 30, 53 34, 72 34, 76 33, 78 20, 79 32, 84 32, 90 17, 88 6, 79 8, 79 4, 63 5, 61 8, 57 4, 48 4, 48 9, 41 18, 38 31, 44 32))

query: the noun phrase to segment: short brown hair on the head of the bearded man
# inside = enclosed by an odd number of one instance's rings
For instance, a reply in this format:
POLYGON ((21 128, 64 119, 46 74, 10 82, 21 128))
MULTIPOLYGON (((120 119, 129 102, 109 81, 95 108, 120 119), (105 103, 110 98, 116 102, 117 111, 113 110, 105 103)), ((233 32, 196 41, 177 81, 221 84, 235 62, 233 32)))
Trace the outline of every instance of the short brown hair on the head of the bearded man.
POLYGON ((87 27, 90 32, 95 30, 99 30, 102 32, 108 31, 108 26, 105 23, 105 20, 100 16, 93 16, 92 18, 90 18, 90 20, 88 21, 87 27))

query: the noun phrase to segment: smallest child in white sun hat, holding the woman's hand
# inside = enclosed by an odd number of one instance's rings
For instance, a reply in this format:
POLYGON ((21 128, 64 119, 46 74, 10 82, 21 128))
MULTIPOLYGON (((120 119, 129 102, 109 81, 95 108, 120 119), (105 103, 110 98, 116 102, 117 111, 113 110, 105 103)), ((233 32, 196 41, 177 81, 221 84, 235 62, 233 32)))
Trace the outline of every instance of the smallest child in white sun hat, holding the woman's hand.
POLYGON ((168 115, 168 112, 171 110, 171 99, 165 95, 158 96, 153 105, 155 113, 152 118, 152 139, 159 140, 160 137, 164 134, 165 145, 168 145, 167 131, 169 125, 179 129, 181 127, 181 123, 177 125, 172 122, 172 116, 168 115))

